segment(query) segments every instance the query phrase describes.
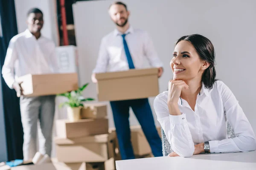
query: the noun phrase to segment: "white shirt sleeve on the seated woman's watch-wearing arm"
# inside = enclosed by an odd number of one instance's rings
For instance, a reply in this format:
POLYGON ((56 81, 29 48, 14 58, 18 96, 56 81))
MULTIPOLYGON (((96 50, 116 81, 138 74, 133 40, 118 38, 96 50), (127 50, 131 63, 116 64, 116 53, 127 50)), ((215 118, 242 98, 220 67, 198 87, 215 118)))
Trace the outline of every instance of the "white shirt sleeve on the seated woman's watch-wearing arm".
POLYGON ((218 86, 225 116, 234 129, 235 138, 209 141, 211 153, 246 152, 256 150, 253 129, 232 91, 223 82, 218 86))

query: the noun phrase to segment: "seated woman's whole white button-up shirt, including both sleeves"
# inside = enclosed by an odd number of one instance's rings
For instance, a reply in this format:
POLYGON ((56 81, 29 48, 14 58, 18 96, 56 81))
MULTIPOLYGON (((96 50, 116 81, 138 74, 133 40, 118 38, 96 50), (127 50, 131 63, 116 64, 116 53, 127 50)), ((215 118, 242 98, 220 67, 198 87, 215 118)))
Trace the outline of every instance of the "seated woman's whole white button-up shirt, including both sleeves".
POLYGON ((194 145, 207 141, 211 153, 256 149, 253 129, 236 97, 223 82, 216 81, 212 89, 202 85, 195 112, 186 100, 180 99, 178 106, 182 114, 170 115, 167 98, 168 91, 159 94, 154 100, 154 109, 172 150, 179 156, 192 156, 194 145), (234 129, 233 139, 227 138, 227 121, 234 129))

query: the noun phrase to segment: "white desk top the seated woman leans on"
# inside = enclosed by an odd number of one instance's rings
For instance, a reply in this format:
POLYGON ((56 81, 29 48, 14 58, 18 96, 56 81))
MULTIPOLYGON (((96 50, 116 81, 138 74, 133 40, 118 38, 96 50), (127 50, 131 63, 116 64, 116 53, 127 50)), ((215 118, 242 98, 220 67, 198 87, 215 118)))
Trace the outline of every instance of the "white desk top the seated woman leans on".
POLYGON ((117 170, 256 170, 256 151, 116 161, 117 170))

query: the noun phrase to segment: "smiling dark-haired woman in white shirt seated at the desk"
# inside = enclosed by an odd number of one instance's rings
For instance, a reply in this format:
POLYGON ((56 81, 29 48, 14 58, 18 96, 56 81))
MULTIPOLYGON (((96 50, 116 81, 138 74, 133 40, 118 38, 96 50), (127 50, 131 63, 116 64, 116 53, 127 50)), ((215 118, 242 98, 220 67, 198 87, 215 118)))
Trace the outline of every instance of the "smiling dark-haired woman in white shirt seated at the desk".
POLYGON ((169 156, 245 152, 256 149, 253 129, 236 97, 215 79, 212 42, 199 34, 181 37, 170 62, 174 77, 154 100, 157 120, 172 147, 169 156), (235 136, 227 137, 227 121, 235 136))

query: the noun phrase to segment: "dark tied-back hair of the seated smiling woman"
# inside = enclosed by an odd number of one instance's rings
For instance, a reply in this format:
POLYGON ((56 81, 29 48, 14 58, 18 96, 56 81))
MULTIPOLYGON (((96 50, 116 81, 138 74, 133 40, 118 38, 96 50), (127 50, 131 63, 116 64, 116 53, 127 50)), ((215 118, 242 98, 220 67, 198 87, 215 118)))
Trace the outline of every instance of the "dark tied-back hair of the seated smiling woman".
POLYGON ((214 67, 215 51, 212 42, 207 37, 204 37, 200 34, 191 34, 180 37, 180 39, 177 40, 176 45, 182 40, 190 42, 194 46, 199 57, 202 60, 210 63, 209 67, 204 71, 202 75, 202 82, 207 88, 212 88, 213 83, 216 81, 216 71, 214 67))

